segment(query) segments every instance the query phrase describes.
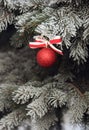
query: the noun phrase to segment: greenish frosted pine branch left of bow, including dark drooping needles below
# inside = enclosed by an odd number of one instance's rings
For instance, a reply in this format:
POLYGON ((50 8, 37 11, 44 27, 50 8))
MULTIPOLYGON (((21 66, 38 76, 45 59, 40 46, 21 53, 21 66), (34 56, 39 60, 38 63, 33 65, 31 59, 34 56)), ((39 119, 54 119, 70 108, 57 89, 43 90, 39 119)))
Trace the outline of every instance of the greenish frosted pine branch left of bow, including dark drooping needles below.
POLYGON ((47 18, 48 15, 39 13, 39 11, 27 12, 16 17, 17 32, 11 37, 11 45, 26 46, 29 43, 29 36, 34 33, 35 28, 47 18))

